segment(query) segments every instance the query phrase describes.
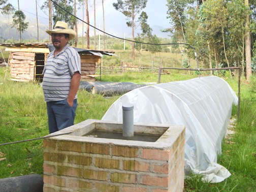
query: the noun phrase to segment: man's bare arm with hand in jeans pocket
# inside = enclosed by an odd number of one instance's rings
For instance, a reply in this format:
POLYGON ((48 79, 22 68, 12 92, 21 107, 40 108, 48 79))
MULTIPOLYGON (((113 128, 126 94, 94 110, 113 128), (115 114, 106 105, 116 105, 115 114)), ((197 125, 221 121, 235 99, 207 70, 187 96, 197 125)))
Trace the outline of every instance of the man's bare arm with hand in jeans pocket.
POLYGON ((69 92, 69 96, 68 96, 68 99, 67 99, 70 107, 73 106, 73 101, 75 99, 76 93, 77 93, 78 88, 79 88, 80 79, 81 79, 80 73, 78 71, 75 72, 73 77, 72 77, 72 80, 71 80, 70 92, 69 92))

